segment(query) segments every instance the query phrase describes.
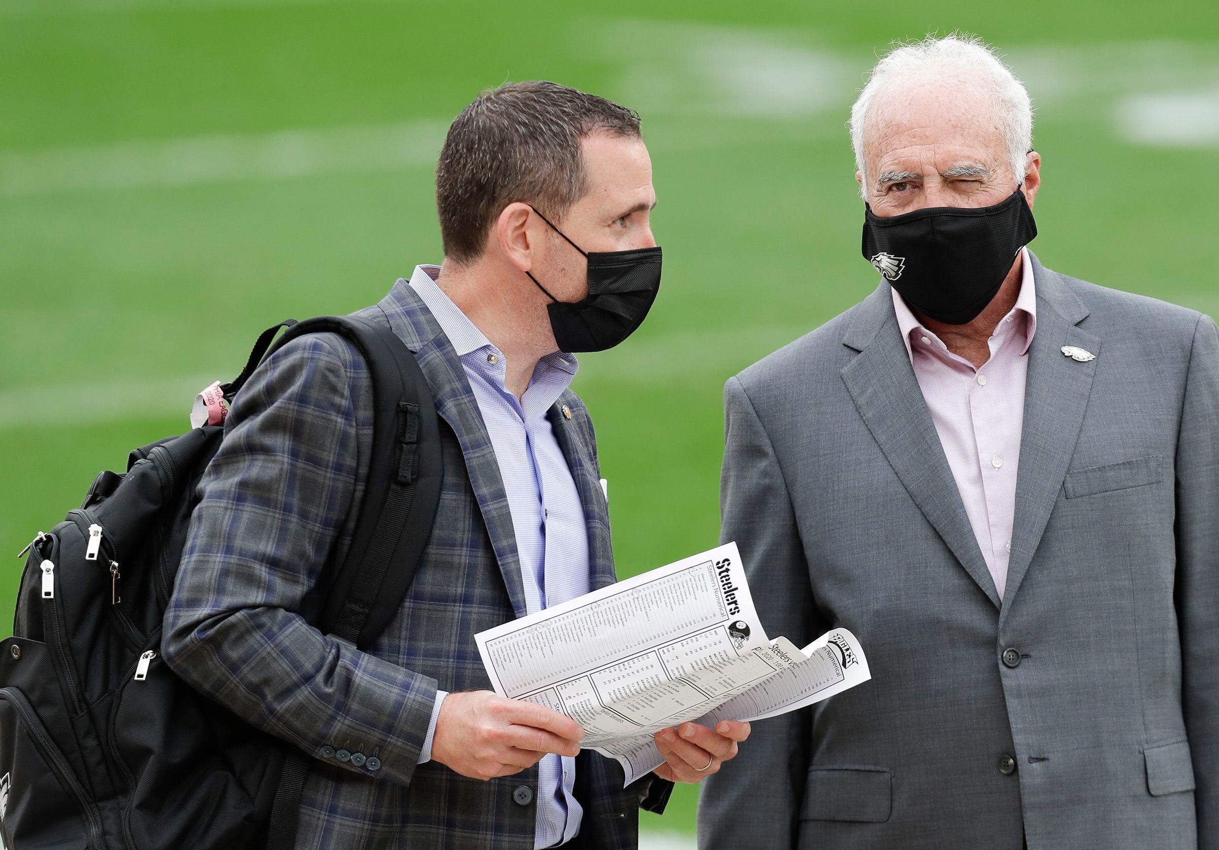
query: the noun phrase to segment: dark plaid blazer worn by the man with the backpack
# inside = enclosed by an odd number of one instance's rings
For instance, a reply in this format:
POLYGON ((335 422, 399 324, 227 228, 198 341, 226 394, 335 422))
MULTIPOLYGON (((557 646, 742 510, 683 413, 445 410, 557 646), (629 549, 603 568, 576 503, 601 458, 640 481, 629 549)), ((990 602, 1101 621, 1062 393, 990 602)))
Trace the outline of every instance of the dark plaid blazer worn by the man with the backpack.
MULTIPOLYGON (((436 689, 490 688, 474 634, 525 613, 495 452, 457 355, 406 280, 356 316, 388 323, 416 354, 441 420, 440 506, 400 611, 367 652, 310 626, 350 545, 372 448, 362 356, 315 334, 268 357, 233 404, 199 485, 162 652, 194 688, 316 757, 297 848, 531 850, 536 767, 482 782, 416 765, 436 689), (339 761, 344 749, 364 757, 339 761)), ((614 568, 592 422, 569 390, 549 416, 601 588, 614 568)), ((642 798, 662 810, 668 784, 622 783, 617 762, 580 754, 584 820, 568 846, 638 846, 642 798)))

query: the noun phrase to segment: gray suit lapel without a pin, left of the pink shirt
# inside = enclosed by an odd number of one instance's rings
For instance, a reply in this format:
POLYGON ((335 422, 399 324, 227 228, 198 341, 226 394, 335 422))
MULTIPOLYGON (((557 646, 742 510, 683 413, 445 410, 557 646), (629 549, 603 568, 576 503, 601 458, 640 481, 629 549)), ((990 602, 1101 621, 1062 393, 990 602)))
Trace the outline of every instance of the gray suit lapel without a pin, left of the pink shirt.
POLYGON ((995 580, 906 354, 887 283, 859 305, 844 343, 859 351, 842 370, 842 380, 868 430, 928 522, 998 607, 995 580))

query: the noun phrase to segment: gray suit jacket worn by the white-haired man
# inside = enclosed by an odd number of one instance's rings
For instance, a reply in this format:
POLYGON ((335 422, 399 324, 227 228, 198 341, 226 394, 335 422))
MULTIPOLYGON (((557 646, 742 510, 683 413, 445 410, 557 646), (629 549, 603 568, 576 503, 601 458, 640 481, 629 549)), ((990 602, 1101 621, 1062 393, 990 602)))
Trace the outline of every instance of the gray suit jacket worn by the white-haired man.
POLYGON ((1219 332, 1034 274, 1003 600, 887 284, 728 382, 723 539, 762 622, 850 628, 873 679, 755 724, 701 848, 1219 848, 1219 332))

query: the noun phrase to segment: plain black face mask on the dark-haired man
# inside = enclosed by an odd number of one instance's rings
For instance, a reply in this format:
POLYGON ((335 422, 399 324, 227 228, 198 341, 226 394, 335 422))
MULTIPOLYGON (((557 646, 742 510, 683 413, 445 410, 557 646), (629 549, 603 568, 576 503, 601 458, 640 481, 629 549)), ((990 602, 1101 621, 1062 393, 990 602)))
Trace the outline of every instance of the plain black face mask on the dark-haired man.
MULTIPOLYGON (((546 216, 538 212, 538 217, 567 239, 546 216)), ((661 249, 639 248, 633 251, 589 254, 570 239, 567 239, 567 244, 589 260, 588 298, 575 302, 560 301, 538 283, 538 278, 525 272, 552 301, 546 305, 546 310, 550 313, 550 327, 555 332, 555 343, 561 351, 612 349, 644 323, 644 317, 656 300, 656 293, 661 288, 661 249)))

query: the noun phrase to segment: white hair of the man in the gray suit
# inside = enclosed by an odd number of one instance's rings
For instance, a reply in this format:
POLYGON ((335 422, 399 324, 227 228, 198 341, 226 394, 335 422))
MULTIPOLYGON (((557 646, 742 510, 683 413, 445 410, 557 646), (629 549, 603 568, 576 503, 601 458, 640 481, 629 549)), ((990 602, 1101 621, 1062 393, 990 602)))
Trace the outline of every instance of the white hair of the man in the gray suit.
POLYGON ((1007 148, 1012 174, 1024 182, 1028 152, 1032 149, 1032 104, 1024 84, 1004 65, 995 49, 976 35, 952 33, 944 38, 928 35, 922 41, 900 44, 876 62, 868 84, 851 107, 851 145, 855 165, 868 184, 863 159, 863 129, 868 109, 880 91, 903 84, 951 79, 980 84, 990 89, 998 112, 1000 132, 1007 148))

